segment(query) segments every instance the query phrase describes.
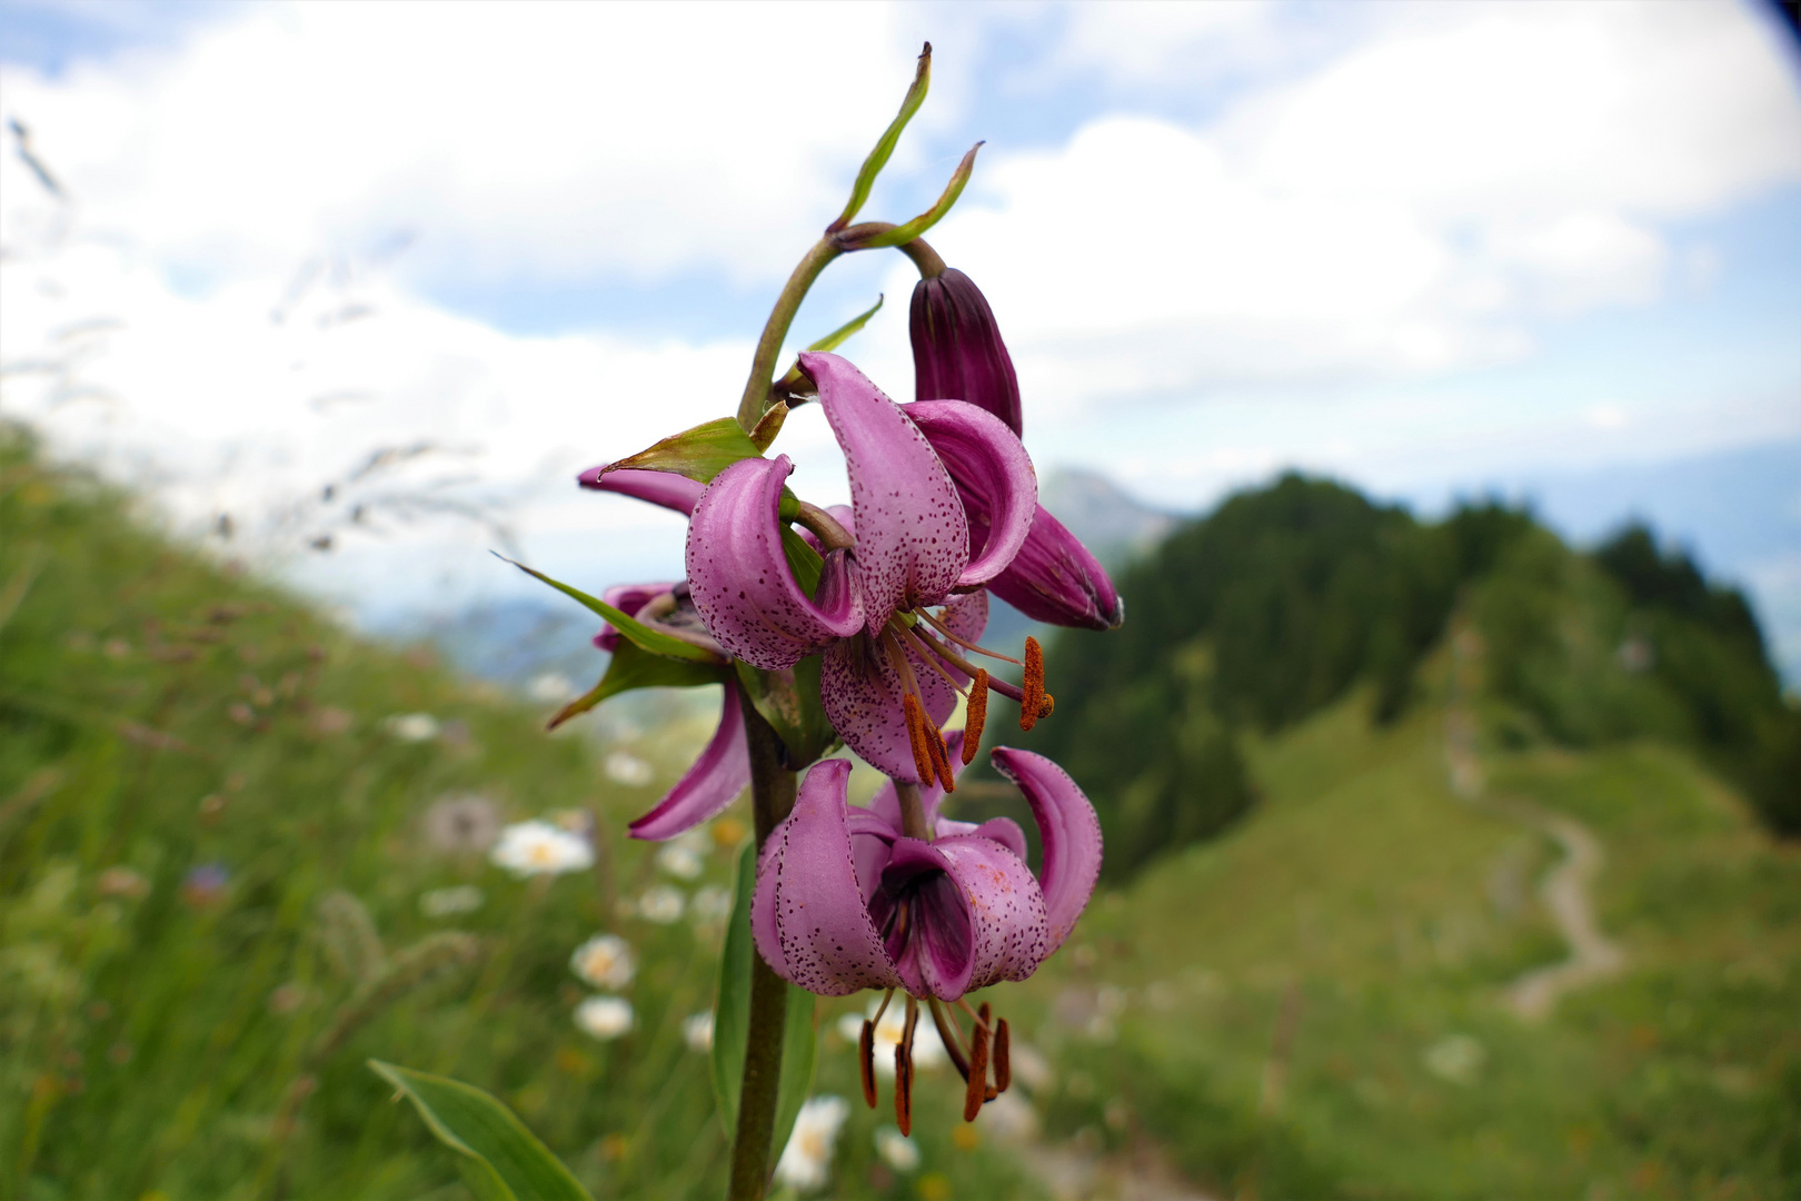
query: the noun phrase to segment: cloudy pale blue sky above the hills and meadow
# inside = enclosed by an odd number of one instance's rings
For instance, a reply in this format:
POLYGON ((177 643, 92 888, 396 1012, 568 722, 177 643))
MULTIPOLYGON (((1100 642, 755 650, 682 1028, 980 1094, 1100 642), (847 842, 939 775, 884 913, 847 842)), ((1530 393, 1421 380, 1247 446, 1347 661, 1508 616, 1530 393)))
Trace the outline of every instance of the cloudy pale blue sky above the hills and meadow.
MULTIPOLYGON (((1041 474, 1432 510, 1787 447, 1787 542, 1713 565, 1801 663, 1801 59, 1752 4, 5 0, 0 411, 360 616, 508 594, 495 546, 666 578, 681 522, 573 475, 735 409, 926 40, 864 218, 983 140, 929 239, 1041 474)), ((843 353, 911 398, 910 272, 841 259, 794 344, 882 295, 843 353)), ((778 450, 843 499, 818 412, 778 450)))

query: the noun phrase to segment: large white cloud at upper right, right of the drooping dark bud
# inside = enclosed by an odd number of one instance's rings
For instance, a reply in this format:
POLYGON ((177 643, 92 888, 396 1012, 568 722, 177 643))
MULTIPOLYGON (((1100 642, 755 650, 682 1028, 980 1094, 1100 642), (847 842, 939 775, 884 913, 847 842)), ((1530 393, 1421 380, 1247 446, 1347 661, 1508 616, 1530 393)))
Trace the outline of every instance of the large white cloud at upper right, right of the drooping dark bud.
POLYGON ((1788 65, 1738 5, 1421 13, 1207 126, 1099 117, 985 164, 938 241, 1036 394, 1516 358, 1538 319, 1657 299, 1664 221, 1801 178, 1788 65))

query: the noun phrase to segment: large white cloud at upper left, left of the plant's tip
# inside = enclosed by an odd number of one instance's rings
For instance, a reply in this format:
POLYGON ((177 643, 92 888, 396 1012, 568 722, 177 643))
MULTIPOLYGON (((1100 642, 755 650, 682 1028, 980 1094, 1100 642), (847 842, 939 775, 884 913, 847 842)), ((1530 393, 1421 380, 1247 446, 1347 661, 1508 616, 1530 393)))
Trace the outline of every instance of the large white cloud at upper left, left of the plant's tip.
POLYGON ((207 277, 396 227, 434 272, 762 277, 893 115, 900 27, 888 5, 306 4, 0 77, 94 227, 207 277))

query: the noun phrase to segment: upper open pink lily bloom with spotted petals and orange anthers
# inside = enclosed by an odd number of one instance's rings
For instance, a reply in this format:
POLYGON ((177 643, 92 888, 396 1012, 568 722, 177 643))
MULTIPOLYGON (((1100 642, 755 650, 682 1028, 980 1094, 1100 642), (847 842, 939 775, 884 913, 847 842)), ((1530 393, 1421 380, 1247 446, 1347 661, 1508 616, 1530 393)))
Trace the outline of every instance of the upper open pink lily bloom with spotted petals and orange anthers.
POLYGON ((821 704, 845 744, 897 780, 949 781, 947 763, 935 771, 938 727, 976 675, 964 650, 980 650, 982 589, 1030 531, 1032 461, 974 405, 902 409, 837 355, 805 353, 801 367, 845 452, 850 528, 823 510, 803 513, 825 551, 807 596, 782 544, 789 459, 733 463, 701 493, 688 528, 695 609, 719 645, 753 666, 780 670, 823 652, 821 704), (987 537, 974 546, 947 459, 980 481, 987 537))

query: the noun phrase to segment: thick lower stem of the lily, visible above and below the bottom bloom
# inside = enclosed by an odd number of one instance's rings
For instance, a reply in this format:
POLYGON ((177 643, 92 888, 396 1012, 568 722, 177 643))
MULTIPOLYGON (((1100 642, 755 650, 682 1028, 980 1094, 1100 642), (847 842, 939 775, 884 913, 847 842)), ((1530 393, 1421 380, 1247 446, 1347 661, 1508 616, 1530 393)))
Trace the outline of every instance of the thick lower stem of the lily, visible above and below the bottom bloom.
MULTIPOLYGON (((751 812, 756 846, 794 808, 794 772, 782 767, 782 736, 764 720, 747 695, 744 736, 751 754, 751 812)), ((751 1017, 744 1046, 744 1088, 738 1093, 738 1129, 731 1140, 731 1201, 758 1201, 769 1187, 771 1138, 782 1091, 782 1035, 787 1019, 787 981, 764 956, 751 956, 751 1017)))

